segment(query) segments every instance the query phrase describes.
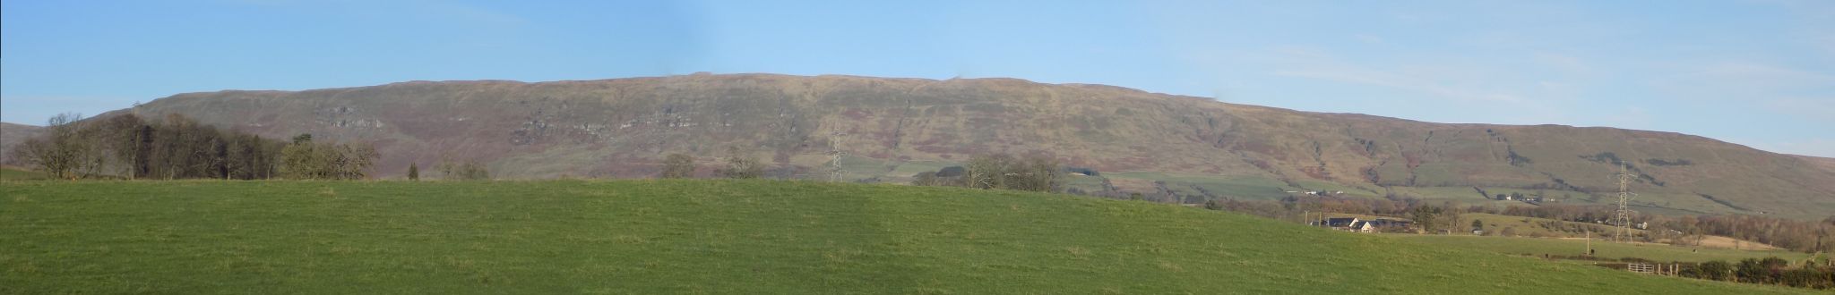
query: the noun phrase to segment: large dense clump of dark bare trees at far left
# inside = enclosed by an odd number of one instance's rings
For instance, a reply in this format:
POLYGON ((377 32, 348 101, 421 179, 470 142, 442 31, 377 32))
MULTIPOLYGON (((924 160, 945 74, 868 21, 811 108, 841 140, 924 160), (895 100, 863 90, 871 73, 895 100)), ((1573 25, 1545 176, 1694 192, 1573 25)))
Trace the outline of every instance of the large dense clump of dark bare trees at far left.
POLYGON ((310 136, 284 143, 178 114, 158 121, 59 114, 48 123, 44 134, 18 143, 13 158, 62 180, 361 180, 376 159, 369 145, 312 143, 310 136))

